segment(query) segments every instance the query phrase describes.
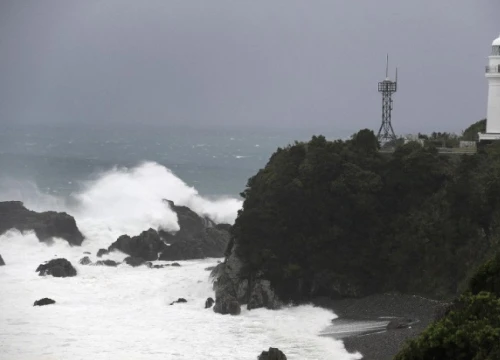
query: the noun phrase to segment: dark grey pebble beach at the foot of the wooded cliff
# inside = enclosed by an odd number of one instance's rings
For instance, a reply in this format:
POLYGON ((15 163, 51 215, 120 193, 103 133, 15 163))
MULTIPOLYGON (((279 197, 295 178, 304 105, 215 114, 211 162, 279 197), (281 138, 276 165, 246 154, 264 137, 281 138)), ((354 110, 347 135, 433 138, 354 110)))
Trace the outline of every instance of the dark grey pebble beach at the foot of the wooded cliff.
POLYGON ((330 309, 338 316, 323 335, 342 340, 347 351, 361 353, 363 360, 392 359, 403 348, 406 340, 418 336, 434 320, 436 310, 445 303, 417 295, 395 293, 360 299, 318 298, 313 301, 313 305, 330 309), (387 324, 394 318, 408 319, 411 325, 387 329, 387 324), (349 323, 353 326, 352 332, 344 328, 343 332, 336 332, 339 325, 349 323))

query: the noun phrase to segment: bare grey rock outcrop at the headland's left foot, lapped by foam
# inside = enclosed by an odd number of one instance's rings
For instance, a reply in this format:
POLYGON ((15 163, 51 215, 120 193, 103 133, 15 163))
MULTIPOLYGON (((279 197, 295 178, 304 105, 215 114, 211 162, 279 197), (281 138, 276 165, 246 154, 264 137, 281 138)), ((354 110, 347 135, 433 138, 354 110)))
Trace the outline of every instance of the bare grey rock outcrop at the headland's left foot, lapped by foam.
POLYGON ((212 271, 215 290, 214 311, 220 314, 239 313, 237 307, 247 304, 247 309, 278 309, 282 303, 275 295, 268 280, 259 274, 242 274, 243 263, 236 255, 235 246, 229 256, 212 271), (238 306, 236 306, 236 304, 238 306))

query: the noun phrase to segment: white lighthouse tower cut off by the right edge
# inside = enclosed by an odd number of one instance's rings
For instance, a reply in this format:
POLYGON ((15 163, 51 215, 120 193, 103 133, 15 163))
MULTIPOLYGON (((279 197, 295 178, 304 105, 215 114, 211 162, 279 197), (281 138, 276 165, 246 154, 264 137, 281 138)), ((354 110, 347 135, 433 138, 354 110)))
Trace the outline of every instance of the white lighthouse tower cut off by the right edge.
POLYGON ((479 134, 479 140, 500 140, 500 36, 493 41, 488 66, 488 112, 486 133, 479 134))

